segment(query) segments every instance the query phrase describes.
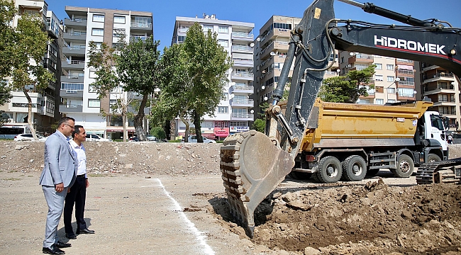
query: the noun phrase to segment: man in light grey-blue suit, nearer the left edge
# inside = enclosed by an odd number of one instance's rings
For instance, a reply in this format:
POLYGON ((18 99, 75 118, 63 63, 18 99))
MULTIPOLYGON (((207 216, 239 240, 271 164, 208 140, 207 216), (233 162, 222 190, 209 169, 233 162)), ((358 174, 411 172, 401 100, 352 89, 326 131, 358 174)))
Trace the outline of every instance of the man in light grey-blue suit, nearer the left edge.
POLYGON ((60 222, 67 190, 74 184, 77 174, 77 157, 67 142, 74 130, 75 120, 70 117, 60 119, 57 130, 45 142, 45 166, 40 176, 45 200, 48 204, 43 253, 65 254, 60 248, 70 244, 60 242, 57 225, 60 222))

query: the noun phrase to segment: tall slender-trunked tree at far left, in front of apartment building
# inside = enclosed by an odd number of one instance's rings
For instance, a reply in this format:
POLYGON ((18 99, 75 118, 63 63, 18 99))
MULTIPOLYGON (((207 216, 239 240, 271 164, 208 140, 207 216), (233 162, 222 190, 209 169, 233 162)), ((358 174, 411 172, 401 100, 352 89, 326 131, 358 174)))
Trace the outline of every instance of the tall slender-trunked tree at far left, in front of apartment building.
POLYGON ((30 91, 41 92, 53 76, 41 62, 48 45, 41 14, 22 13, 18 26, 13 28, 14 13, 18 13, 11 1, 0 0, 0 78, 11 77, 11 89, 23 91, 28 101, 28 124, 35 140, 32 122, 32 98, 30 91), (6 66, 6 64, 8 66, 6 66))

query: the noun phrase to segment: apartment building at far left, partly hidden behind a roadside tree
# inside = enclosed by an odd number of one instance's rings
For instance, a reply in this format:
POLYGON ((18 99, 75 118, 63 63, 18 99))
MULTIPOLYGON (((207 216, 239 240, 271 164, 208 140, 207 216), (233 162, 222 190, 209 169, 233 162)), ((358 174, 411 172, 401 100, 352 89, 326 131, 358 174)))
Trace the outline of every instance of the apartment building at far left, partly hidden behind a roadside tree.
MULTIPOLYGON (((48 72, 55 75, 55 81, 50 81, 46 89, 38 89, 35 84, 26 85, 28 95, 32 99, 32 120, 35 130, 41 134, 52 132, 50 126, 60 118, 60 113, 57 107, 60 103, 59 94, 57 94, 56 84, 60 80, 60 21, 52 11, 48 11, 48 4, 45 1, 29 1, 16 0, 14 1, 18 14, 14 18, 13 26, 17 26, 18 19, 23 13, 40 14, 45 23, 45 30, 50 36, 47 51, 40 64, 48 72)), ((9 78, 6 78, 5 83, 9 83, 9 78)), ((7 120, 6 126, 13 125, 28 125, 28 100, 23 91, 12 91, 13 98, 9 103, 0 106, 2 118, 7 120)))

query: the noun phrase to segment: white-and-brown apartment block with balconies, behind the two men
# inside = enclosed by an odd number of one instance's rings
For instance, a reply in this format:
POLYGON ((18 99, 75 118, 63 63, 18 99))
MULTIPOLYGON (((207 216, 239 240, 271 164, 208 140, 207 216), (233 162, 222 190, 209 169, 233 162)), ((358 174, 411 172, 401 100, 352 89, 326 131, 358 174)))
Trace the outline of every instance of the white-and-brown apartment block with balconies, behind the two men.
MULTIPOLYGON (((117 98, 130 95, 114 90, 99 100, 90 85, 96 78, 96 70, 87 65, 88 45, 94 41, 96 45, 106 42, 114 46, 120 43, 121 35, 125 35, 126 42, 145 39, 153 34, 152 13, 74 6, 66 6, 65 11, 69 17, 64 20, 59 111, 75 118, 89 134, 121 139, 123 121, 120 114, 110 110, 110 105, 116 103, 117 98), (101 109, 109 114, 104 117, 101 109)), ((128 120, 128 137, 134 132, 133 120, 128 120)))

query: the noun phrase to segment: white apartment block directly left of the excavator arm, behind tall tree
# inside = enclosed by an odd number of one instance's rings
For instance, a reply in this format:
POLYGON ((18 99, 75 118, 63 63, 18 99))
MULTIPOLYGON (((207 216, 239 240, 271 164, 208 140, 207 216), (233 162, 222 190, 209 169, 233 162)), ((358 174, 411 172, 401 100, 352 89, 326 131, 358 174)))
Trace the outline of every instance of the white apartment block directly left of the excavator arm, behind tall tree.
MULTIPOLYGON (((199 23, 204 33, 211 30, 218 35, 218 43, 224 47, 232 58, 233 67, 229 72, 229 83, 224 86, 224 99, 216 108, 214 117, 204 116, 201 133, 211 139, 225 139, 236 132, 250 130, 253 120, 253 34, 254 23, 240 21, 221 21, 215 15, 204 14, 202 18, 176 17, 172 44, 182 43, 186 39, 187 30, 199 23)), ((189 120, 190 126, 194 124, 189 120)), ((175 120, 176 135, 184 135, 186 126, 179 118, 175 120)))

